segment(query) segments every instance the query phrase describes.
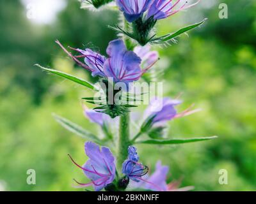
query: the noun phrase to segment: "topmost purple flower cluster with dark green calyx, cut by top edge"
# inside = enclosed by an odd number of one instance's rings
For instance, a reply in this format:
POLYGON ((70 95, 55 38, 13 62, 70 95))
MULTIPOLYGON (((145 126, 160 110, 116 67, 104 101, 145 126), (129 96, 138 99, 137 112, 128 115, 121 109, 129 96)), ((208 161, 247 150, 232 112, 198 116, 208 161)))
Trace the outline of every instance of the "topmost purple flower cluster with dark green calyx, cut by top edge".
MULTIPOLYGON (((181 0, 116 0, 119 10, 124 13, 127 22, 132 24, 132 31, 118 26, 113 29, 138 41, 140 45, 166 43, 175 38, 176 35, 166 34, 156 37, 156 33, 152 32, 152 29, 157 20, 168 18, 179 11, 195 6, 199 1, 189 4, 188 1, 182 3, 181 0)), ((190 27, 190 29, 192 28, 190 27)), ((186 29, 183 32, 186 32, 186 29)))

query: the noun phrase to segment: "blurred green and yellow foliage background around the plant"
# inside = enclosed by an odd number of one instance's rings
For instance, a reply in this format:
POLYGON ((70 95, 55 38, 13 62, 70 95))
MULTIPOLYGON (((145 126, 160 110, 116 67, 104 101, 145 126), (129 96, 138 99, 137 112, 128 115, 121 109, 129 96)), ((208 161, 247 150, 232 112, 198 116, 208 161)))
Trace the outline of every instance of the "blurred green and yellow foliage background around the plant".
MULTIPOLYGON (((115 25, 118 14, 82 10, 76 0, 51 2, 39 12, 42 19, 31 20, 28 1, 0 1, 0 190, 77 191, 72 178, 86 181, 67 157, 70 153, 84 163, 84 140, 63 129, 51 113, 95 133, 97 125, 83 116, 81 108, 81 96, 90 92, 33 64, 93 80, 54 40, 104 54, 108 42, 116 38, 107 25, 115 25), (53 4, 62 8, 55 10, 55 19, 53 4), (26 183, 28 169, 35 169, 36 185, 26 183)), ((159 66, 166 67, 165 96, 183 92, 185 102, 179 110, 191 103, 203 109, 170 122, 168 135, 218 135, 218 140, 159 147, 154 152, 152 146, 137 147, 141 161, 150 168, 159 159, 170 165, 168 181, 182 178, 182 186, 195 186, 195 191, 255 191, 256 2, 221 3, 228 5, 228 19, 218 17, 219 1, 205 0, 161 20, 157 33, 165 34, 209 18, 177 44, 154 47, 161 56, 159 66), (220 169, 228 171, 228 185, 218 183, 220 169)))

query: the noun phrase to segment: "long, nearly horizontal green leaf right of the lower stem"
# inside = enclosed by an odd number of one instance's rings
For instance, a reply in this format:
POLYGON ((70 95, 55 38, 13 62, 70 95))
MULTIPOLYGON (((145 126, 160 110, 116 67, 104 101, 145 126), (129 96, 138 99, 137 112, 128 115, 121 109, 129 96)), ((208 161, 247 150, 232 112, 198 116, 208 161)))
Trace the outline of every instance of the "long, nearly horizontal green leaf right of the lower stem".
POLYGON ((152 144, 152 145, 175 145, 189 142, 200 142, 205 140, 216 139, 218 136, 209 136, 204 138, 190 138, 190 139, 170 139, 170 140, 143 140, 136 143, 152 144))

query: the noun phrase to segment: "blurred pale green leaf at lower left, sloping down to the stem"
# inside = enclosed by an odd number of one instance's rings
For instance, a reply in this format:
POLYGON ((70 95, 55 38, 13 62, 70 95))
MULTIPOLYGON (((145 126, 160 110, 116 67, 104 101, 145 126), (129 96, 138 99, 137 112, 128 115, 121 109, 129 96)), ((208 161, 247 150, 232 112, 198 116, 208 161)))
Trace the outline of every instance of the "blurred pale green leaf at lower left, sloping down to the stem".
POLYGON ((63 128, 67 129, 68 131, 75 133, 76 135, 81 136, 84 139, 93 140, 94 142, 101 143, 99 138, 97 138, 92 133, 86 131, 85 129, 81 128, 81 126, 75 124, 74 122, 71 122, 70 120, 65 119, 63 117, 60 117, 55 113, 52 113, 52 116, 58 123, 61 124, 61 126, 63 126, 63 128))

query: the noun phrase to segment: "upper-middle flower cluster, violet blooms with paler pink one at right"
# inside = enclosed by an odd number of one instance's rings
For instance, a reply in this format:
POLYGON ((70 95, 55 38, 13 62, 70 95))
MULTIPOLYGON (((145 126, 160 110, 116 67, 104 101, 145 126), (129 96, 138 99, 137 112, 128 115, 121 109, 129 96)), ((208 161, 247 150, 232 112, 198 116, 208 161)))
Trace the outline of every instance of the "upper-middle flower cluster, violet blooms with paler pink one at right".
POLYGON ((79 66, 91 71, 93 77, 113 78, 114 82, 123 82, 127 85, 139 80, 158 60, 157 52, 150 51, 150 46, 138 46, 134 48, 134 51, 129 51, 121 39, 109 42, 106 50, 109 57, 94 52, 90 48, 84 50, 71 48, 80 53, 80 55, 72 55, 61 45, 60 41, 57 40, 56 43, 79 66), (83 58, 84 62, 79 61, 80 58, 83 58))

